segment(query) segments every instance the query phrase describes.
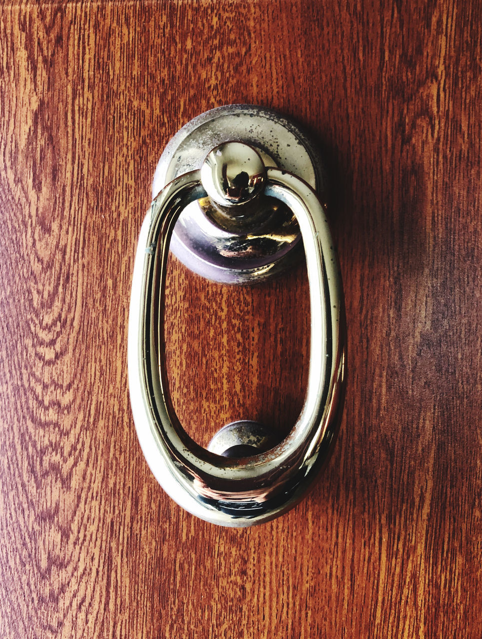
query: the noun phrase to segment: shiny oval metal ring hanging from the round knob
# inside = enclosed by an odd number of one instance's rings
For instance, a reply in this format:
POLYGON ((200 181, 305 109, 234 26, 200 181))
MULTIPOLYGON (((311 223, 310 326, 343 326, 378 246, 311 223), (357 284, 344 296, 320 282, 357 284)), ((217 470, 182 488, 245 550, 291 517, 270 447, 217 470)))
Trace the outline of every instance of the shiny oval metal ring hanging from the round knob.
POLYGON ((306 182, 279 169, 267 169, 265 194, 283 201, 297 217, 311 306, 306 399, 283 442, 252 457, 224 458, 185 433, 169 397, 164 356, 169 238, 183 208, 206 196, 200 171, 176 178, 153 200, 139 237, 130 302, 130 397, 144 456, 178 504, 203 520, 231 527, 271 520, 300 500, 327 459, 345 387, 343 291, 323 205, 306 182))

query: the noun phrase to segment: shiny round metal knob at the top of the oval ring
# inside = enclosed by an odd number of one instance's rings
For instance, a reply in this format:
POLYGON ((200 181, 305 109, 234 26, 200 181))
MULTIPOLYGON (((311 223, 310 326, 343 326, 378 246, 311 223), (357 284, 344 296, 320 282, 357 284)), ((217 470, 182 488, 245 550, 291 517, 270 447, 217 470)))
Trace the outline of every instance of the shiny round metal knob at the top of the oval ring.
POLYGON ((249 144, 224 142, 208 153, 201 167, 201 182, 208 196, 221 206, 251 201, 265 187, 266 169, 249 144))

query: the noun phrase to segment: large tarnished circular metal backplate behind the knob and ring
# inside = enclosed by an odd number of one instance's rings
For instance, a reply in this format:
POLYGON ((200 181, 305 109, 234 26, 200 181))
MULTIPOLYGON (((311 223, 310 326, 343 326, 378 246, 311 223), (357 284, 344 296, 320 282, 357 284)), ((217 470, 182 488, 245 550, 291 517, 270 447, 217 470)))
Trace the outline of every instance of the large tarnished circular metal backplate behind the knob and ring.
MULTIPOLYGON (((265 166, 294 173, 318 193, 325 190, 320 155, 299 127, 274 111, 235 104, 206 111, 176 133, 157 164, 153 197, 177 176, 200 169, 215 146, 230 141, 250 144, 265 166)), ((269 220, 235 231, 206 214, 209 206, 206 201, 187 206, 170 244, 175 256, 199 275, 226 284, 258 282, 283 270, 299 254, 296 220, 276 202, 270 205, 269 220)))

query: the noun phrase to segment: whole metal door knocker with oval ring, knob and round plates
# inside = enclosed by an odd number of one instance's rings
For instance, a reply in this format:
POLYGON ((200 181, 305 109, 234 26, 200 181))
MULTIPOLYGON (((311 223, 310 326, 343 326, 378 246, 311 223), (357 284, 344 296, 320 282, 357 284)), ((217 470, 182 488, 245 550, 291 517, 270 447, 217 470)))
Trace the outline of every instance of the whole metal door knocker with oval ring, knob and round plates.
POLYGON ((137 245, 128 328, 130 401, 144 456, 164 490, 199 518, 246 527, 299 502, 327 459, 343 408, 343 289, 315 148, 278 114, 230 105, 194 118, 157 167, 137 245), (318 195, 317 195, 318 193, 318 195), (233 284, 288 268, 304 248, 311 344, 306 398, 274 444, 249 420, 224 426, 208 449, 173 410, 164 353, 169 250, 192 270, 233 284))

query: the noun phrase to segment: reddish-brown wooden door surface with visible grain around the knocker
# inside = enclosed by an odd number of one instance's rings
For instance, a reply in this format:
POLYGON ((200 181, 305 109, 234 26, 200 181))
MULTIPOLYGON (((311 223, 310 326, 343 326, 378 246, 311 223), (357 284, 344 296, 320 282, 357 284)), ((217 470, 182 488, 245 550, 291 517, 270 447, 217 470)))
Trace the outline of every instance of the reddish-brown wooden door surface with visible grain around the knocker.
MULTIPOLYGON (((3 4, 2 637, 480 637, 481 27, 477 0, 3 4), (127 389, 153 169, 231 102, 320 141, 348 320, 334 456, 251 530, 169 501, 127 389)), ((302 266, 229 289, 172 261, 169 289, 186 429, 285 433, 306 383, 302 266)))

